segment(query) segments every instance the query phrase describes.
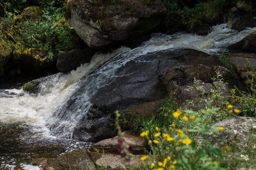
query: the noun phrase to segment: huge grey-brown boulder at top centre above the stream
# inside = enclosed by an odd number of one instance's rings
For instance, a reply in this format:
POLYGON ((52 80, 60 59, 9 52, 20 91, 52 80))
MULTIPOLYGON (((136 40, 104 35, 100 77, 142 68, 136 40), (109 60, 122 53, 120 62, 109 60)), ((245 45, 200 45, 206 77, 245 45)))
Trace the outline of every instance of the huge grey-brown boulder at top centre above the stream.
POLYGON ((103 47, 150 33, 166 15, 161 0, 66 0, 65 18, 90 47, 103 47))

